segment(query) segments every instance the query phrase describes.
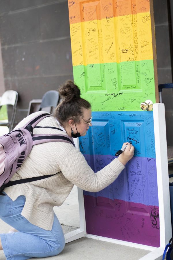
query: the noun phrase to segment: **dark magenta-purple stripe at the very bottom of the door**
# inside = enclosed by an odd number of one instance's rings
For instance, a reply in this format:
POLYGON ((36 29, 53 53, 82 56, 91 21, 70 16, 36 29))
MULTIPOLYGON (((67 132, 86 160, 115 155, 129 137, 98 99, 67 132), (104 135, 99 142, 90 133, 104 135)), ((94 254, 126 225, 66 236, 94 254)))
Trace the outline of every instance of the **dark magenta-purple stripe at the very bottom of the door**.
POLYGON ((160 246, 159 208, 84 195, 86 231, 147 246, 160 246))

